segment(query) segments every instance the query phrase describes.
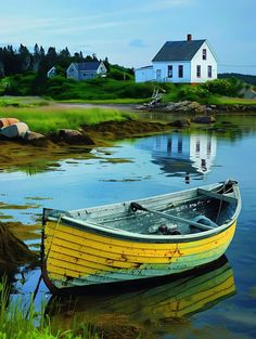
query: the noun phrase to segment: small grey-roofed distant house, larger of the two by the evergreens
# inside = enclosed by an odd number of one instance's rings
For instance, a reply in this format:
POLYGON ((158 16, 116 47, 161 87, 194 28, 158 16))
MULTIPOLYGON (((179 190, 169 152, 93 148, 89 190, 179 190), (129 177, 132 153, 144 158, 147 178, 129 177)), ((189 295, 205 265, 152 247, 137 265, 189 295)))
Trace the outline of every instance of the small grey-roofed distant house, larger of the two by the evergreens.
POLYGON ((66 70, 67 78, 77 81, 95 78, 106 75, 106 67, 103 62, 89 61, 84 63, 72 63, 66 70))

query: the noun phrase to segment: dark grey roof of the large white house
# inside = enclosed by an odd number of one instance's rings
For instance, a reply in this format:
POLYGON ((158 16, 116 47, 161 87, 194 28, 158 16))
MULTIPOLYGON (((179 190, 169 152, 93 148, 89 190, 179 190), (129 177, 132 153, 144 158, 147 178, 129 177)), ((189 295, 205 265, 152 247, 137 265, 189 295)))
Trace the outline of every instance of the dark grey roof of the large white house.
POLYGON ((167 41, 152 62, 191 61, 206 40, 167 41))

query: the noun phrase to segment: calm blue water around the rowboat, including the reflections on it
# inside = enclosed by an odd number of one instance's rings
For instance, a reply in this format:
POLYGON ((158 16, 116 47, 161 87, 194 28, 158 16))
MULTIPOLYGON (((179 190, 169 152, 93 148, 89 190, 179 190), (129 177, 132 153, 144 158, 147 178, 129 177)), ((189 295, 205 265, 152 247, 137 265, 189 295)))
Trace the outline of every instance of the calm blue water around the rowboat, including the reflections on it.
MULTIPOLYGON (((225 116, 219 119, 231 120, 225 116)), ((127 326, 146 330, 149 338, 256 338, 256 116, 235 116, 232 122, 240 128, 231 132, 176 132, 92 149, 92 158, 69 154, 54 170, 37 172, 33 157, 29 171, 3 168, 0 203, 27 205, 27 209, 5 207, 0 217, 34 224, 42 206, 77 209, 233 178, 239 181, 243 207, 226 253, 228 262, 178 283, 85 297, 77 307, 79 315, 86 313, 92 323, 121 318, 127 326), (177 311, 182 303, 183 313, 177 311)), ((38 236, 26 243, 35 248, 38 236)), ((34 291, 39 274, 39 270, 29 271, 26 283, 16 284, 17 290, 24 296, 34 291)), ((41 296, 50 298, 43 284, 38 298, 41 296)))

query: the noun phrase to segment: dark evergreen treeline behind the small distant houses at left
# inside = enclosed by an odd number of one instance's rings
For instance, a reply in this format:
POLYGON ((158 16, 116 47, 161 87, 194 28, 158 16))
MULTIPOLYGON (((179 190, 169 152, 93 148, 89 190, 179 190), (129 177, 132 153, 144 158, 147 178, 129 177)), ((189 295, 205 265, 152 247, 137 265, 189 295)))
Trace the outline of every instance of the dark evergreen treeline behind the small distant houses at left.
MULTIPOLYGON (((30 52, 25 45, 21 44, 17 50, 12 45, 0 48, 0 78, 24 74, 28 71, 47 74, 52 67, 57 67, 59 74, 65 75, 66 68, 71 63, 85 61, 98 61, 95 54, 82 55, 82 52, 71 54, 68 48, 56 51, 50 47, 47 51, 37 43, 30 52)), ((107 57, 104 60, 106 68, 110 67, 107 57)))

